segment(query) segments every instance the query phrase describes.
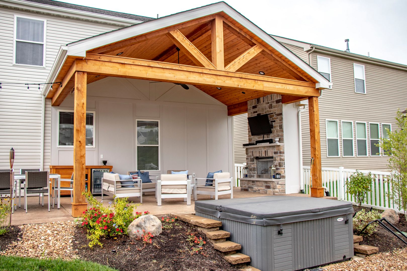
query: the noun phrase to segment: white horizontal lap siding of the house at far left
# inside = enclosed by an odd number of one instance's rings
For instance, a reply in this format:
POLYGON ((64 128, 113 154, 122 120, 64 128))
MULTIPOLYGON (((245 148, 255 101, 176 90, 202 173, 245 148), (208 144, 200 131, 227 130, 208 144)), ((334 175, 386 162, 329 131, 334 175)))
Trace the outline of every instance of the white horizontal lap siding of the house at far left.
MULTIPOLYGON (((55 14, 58 12, 56 11, 55 14)), ((15 150, 14 169, 41 165, 41 111, 43 85, 7 85, 7 82, 45 82, 61 45, 121 28, 57 15, 40 14, 0 7, 0 168, 9 168, 9 150, 15 150), (46 20, 45 67, 13 65, 14 18, 46 20)), ((135 22, 136 23, 136 22, 135 22)), ((46 100, 44 130, 44 169, 50 165, 50 100, 46 100)))

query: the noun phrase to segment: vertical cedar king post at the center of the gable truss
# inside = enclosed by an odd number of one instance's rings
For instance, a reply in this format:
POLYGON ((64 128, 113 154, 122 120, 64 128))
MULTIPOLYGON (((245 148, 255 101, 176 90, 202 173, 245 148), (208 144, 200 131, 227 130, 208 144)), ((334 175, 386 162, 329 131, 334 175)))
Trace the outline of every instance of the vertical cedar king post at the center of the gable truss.
POLYGON ((223 20, 216 15, 212 21, 212 63, 219 70, 225 69, 225 56, 223 45, 223 20))

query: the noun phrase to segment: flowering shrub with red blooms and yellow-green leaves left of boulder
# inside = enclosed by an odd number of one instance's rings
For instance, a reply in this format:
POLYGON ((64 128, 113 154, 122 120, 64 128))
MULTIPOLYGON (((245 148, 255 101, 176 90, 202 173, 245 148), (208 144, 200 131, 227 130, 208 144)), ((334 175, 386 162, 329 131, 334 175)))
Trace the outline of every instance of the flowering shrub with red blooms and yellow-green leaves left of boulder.
MULTIPOLYGON (((81 225, 86 228, 88 233, 89 247, 103 244, 100 241, 101 237, 119 236, 127 234, 127 227, 130 223, 143 215, 137 212, 133 215, 133 208, 138 204, 129 203, 127 197, 114 197, 113 202, 109 202, 109 206, 103 206, 102 202, 98 202, 89 192, 83 192, 91 208, 83 211, 81 225)), ((148 212, 144 212, 147 215, 148 212)))

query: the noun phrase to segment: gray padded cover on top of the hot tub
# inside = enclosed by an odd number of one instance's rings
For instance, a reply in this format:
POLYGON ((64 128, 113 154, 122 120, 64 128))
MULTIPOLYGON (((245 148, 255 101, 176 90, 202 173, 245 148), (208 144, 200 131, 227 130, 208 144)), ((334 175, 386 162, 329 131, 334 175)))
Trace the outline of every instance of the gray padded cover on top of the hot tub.
POLYGON ((353 213, 351 202, 315 197, 265 196, 201 200, 195 211, 256 225, 278 225, 353 213))

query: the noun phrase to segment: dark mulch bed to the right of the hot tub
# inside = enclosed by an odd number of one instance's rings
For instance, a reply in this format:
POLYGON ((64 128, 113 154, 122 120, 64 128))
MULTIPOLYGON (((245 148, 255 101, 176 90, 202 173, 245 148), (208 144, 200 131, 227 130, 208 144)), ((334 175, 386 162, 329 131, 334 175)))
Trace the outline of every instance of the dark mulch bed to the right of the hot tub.
MULTIPOLYGON (((364 208, 365 210, 369 210, 369 208, 353 206, 355 212, 364 208)), ((383 210, 377 210, 379 213, 383 212, 383 210)), ((400 220, 394 226, 398 228, 402 232, 407 232, 407 221, 405 220, 405 216, 403 214, 398 215, 400 220)), ((387 225, 387 223, 385 223, 387 225)), ((379 252, 387 252, 392 251, 395 248, 405 248, 405 245, 400 239, 394 236, 392 233, 388 232, 381 226, 377 226, 377 231, 374 232, 370 236, 362 235, 363 241, 360 242, 361 245, 371 245, 373 247, 379 247, 379 252)), ((402 236, 400 236, 402 237, 402 236)), ((403 238, 403 237, 402 237, 403 238)), ((407 241, 407 240, 405 240, 407 241)))

